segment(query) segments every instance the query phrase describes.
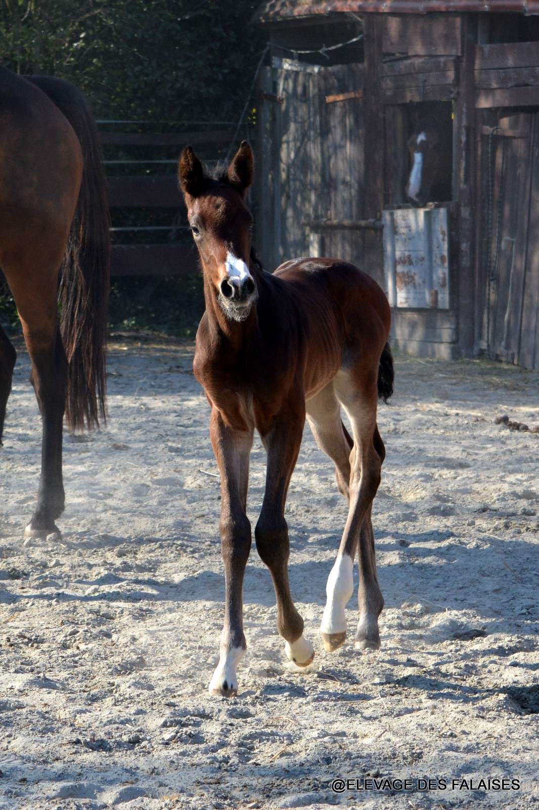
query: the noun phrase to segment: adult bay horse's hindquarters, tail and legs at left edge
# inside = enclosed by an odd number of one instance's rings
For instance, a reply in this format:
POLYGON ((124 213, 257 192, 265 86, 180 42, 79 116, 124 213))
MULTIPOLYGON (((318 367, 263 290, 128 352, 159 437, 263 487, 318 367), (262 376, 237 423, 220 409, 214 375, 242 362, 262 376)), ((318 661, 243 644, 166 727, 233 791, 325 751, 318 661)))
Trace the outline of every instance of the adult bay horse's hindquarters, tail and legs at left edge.
MULTIPOLYGON (((43 422, 41 477, 27 536, 58 531, 62 421, 105 415, 108 207, 99 138, 62 79, 0 67, 0 269, 15 299, 43 422), (60 316, 58 310, 61 310, 60 316)), ((0 443, 15 366, 0 326, 0 443)))

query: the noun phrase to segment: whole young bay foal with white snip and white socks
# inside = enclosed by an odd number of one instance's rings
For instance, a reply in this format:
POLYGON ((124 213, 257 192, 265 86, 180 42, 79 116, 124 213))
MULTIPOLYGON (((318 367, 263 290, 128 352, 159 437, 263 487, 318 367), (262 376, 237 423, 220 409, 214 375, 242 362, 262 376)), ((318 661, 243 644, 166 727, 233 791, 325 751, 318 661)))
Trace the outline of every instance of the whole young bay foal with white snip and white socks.
POLYGON ((355 646, 380 646, 384 604, 376 578, 371 505, 380 483, 384 443, 376 426, 378 396, 393 390, 387 344, 390 311, 368 275, 335 259, 301 258, 274 275, 251 249, 253 217, 244 203, 253 153, 242 143, 221 175, 207 177, 187 147, 180 185, 197 243, 206 313, 197 332, 194 372, 211 405, 210 433, 221 471, 221 540, 225 567, 225 624, 210 693, 238 689, 236 667, 246 649, 242 619, 244 569, 251 548, 245 514, 253 432, 267 451, 265 496, 255 529, 257 550, 277 595, 278 632, 289 659, 311 663, 312 643, 288 584, 286 492, 307 416, 322 450, 333 459, 350 511, 337 561, 329 574, 321 633, 326 650, 346 637, 345 605, 354 590, 359 556, 359 625, 355 646), (353 440, 341 420, 341 405, 353 440))

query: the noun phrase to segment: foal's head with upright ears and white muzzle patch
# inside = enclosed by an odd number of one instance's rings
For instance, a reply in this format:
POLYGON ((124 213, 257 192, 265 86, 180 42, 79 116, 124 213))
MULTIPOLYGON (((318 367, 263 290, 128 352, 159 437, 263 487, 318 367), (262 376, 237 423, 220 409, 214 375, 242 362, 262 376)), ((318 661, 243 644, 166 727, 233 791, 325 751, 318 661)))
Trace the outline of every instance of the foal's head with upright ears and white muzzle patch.
POLYGON ((244 321, 257 297, 249 270, 253 216, 245 194, 253 180, 253 152, 244 141, 231 164, 215 177, 204 172, 191 147, 180 157, 180 186, 206 279, 227 318, 244 321))

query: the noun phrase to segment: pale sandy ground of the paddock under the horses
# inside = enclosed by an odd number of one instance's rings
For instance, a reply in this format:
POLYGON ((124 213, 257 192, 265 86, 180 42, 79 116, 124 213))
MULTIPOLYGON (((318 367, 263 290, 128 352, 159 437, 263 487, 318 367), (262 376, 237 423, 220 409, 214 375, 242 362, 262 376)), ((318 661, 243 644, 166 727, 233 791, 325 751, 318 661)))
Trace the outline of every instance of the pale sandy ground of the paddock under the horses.
MULTIPOLYGON (((253 548, 248 653, 227 701, 206 691, 223 620, 219 478, 192 356, 185 343, 112 345, 108 428, 65 437, 63 538, 31 542, 40 424, 19 357, 0 459, 0 808, 535 807, 539 435, 494 417, 539 424, 539 375, 397 360, 380 407, 374 654, 321 647, 346 508, 306 429, 287 520, 316 658, 286 663, 253 548), (414 790, 380 782, 399 777, 414 790), (381 789, 335 793, 334 778, 381 789), (480 778, 520 791, 472 790, 480 778)), ((257 439, 253 523, 263 481, 257 439)), ((355 598, 347 615, 353 638, 355 598)))

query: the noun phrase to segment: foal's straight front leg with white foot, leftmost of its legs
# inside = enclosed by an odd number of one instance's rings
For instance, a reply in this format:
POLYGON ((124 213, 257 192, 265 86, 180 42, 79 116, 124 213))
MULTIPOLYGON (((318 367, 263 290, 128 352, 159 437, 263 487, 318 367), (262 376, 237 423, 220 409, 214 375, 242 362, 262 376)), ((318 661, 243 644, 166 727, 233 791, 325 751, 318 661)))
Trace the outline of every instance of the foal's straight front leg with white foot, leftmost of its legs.
POLYGON ((243 621, 244 572, 251 549, 251 524, 245 508, 253 426, 229 428, 216 408, 211 412, 211 443, 221 471, 221 551, 225 569, 225 620, 220 658, 210 694, 231 697, 238 691, 236 667, 247 644, 243 621))

